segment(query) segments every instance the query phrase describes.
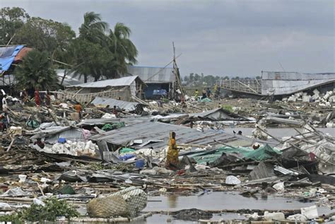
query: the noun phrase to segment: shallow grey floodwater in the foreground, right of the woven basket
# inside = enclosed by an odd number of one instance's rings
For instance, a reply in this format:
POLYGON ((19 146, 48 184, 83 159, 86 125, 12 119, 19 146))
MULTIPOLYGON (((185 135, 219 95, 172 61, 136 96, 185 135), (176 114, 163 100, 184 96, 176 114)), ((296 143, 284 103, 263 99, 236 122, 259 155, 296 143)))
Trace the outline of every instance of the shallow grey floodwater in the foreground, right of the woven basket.
MULTIPOLYGON (((187 208, 198 208, 209 211, 238 210, 238 209, 260 209, 260 210, 299 210, 300 208, 313 206, 313 202, 302 203, 297 198, 283 196, 262 196, 257 198, 246 198, 240 196, 238 192, 212 192, 203 196, 149 196, 148 206, 143 212, 158 211, 179 211, 187 208)), ((331 213, 330 208, 318 208, 319 215, 331 213)), ((216 213, 213 219, 233 220, 246 219, 238 213, 216 213)), ((151 223, 196 223, 192 221, 176 220, 172 216, 155 214, 145 221, 136 224, 151 223)))

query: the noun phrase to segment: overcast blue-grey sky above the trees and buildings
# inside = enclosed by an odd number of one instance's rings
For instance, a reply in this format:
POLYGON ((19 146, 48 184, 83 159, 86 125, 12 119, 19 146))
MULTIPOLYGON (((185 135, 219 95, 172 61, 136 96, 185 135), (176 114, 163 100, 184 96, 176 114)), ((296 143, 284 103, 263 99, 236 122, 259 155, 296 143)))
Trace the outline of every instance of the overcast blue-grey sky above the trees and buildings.
POLYGON ((125 23, 139 66, 165 66, 174 41, 182 76, 257 76, 262 70, 335 72, 334 2, 0 0, 0 6, 69 23, 77 33, 88 11, 111 27, 125 23))

